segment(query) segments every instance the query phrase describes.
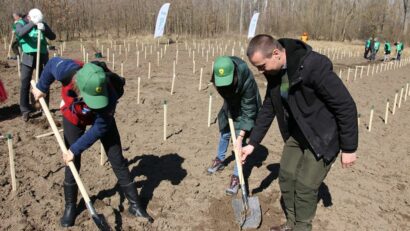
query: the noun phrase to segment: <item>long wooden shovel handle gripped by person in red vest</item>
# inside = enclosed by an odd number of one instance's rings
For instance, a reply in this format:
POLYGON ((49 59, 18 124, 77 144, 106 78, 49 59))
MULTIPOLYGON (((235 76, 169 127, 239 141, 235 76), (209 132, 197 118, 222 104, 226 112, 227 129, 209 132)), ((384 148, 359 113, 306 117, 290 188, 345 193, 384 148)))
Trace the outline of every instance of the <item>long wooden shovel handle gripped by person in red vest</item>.
MULTIPOLYGON (((34 80, 31 80, 31 86, 33 88, 36 87, 36 82, 34 80)), ((54 136, 56 137, 57 142, 60 145, 61 151, 63 153, 67 153, 68 152, 67 147, 65 146, 63 138, 61 137, 60 133, 58 132, 58 128, 57 128, 56 124, 54 123, 53 117, 51 116, 50 110, 47 107, 46 101, 42 97, 39 99, 39 101, 40 101, 41 107, 43 108, 44 113, 46 114, 48 123, 50 124, 51 129, 54 132, 54 136)), ((81 192, 81 195, 84 198, 84 201, 86 203, 89 203, 91 201, 90 197, 88 196, 87 191, 84 188, 84 184, 81 181, 80 176, 78 175, 78 172, 77 172, 77 169, 74 166, 74 163, 72 161, 68 162, 68 167, 70 167, 70 170, 73 173, 73 176, 75 178, 75 182, 77 183, 78 188, 80 189, 80 192, 81 192)))

